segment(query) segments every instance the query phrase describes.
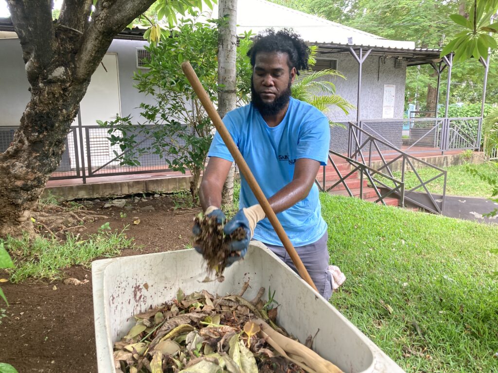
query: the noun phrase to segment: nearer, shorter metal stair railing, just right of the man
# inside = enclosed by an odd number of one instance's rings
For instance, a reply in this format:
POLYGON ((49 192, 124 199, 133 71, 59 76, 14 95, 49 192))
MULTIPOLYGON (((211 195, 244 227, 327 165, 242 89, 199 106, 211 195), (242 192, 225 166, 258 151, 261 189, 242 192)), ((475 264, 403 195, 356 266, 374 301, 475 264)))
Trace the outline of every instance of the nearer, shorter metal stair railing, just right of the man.
POLYGON ((363 181, 364 181, 364 176, 365 176, 365 177, 367 177, 368 181, 370 181, 370 183, 373 186, 373 189, 375 191, 375 194, 377 196, 377 199, 374 200, 375 203, 381 202, 383 205, 385 205, 384 198, 387 198, 390 195, 392 195, 393 193, 397 192, 399 195, 399 205, 401 207, 404 206, 404 183, 392 178, 392 175, 389 176, 389 175, 383 174, 380 171, 375 170, 375 169, 365 165, 364 163, 357 162, 354 159, 348 158, 348 157, 346 157, 340 153, 334 152, 332 150, 329 150, 329 161, 332 164, 332 166, 334 167, 334 170, 336 171, 337 175, 339 176, 339 180, 335 184, 331 185, 330 187, 326 187, 326 166, 322 166, 322 169, 323 169, 322 183, 320 184, 320 182, 315 179, 315 183, 318 186, 318 189, 320 191, 329 192, 332 189, 334 189, 335 187, 337 187, 338 185, 343 184, 343 186, 346 189, 346 191, 348 192, 349 196, 352 197, 353 192, 351 191, 350 187, 346 183, 346 180, 349 177, 351 177, 352 175, 354 175, 356 172, 359 172, 360 173, 360 175, 359 175, 360 176, 360 194, 359 194, 360 199, 363 199, 363 184, 364 184, 363 181), (349 172, 343 176, 341 171, 337 167, 336 163, 334 162, 334 159, 330 156, 330 154, 335 155, 337 157, 340 157, 340 158, 348 161, 352 165, 352 169, 349 170, 349 172), (373 175, 375 175, 375 174, 379 175, 380 177, 382 177, 384 179, 391 181, 395 185, 395 187, 393 187, 393 188, 387 187, 380 180, 377 180, 375 177, 373 177, 373 175), (379 188, 375 185, 375 182, 377 184, 381 185, 382 187, 386 187, 388 190, 382 194, 380 192, 379 188))

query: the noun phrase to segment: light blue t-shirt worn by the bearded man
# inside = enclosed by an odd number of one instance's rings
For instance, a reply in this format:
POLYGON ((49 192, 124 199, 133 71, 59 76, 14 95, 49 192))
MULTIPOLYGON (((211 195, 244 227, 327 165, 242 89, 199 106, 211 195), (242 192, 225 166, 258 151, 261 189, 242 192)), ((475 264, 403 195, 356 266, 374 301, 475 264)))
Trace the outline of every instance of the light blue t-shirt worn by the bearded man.
MULTIPOLYGON (((321 165, 327 164, 329 120, 306 102, 290 98, 285 117, 276 127, 269 127, 252 104, 230 111, 223 121, 266 198, 292 181, 296 159, 309 158, 321 165)), ((219 133, 214 136, 208 156, 233 162, 219 133)), ((240 208, 256 203, 256 197, 241 175, 240 208)), ((313 184, 306 198, 277 214, 292 245, 308 245, 325 234, 327 223, 320 211, 318 187, 313 184)), ((282 246, 267 218, 258 222, 254 239, 282 246)))

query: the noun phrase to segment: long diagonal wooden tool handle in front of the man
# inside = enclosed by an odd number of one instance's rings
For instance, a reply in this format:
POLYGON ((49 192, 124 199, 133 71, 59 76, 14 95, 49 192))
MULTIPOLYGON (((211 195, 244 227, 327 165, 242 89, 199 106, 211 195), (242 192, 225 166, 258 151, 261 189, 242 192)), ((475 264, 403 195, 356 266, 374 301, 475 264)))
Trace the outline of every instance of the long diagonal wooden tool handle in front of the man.
POLYGON ((268 200, 263 194, 263 191, 259 187, 259 185, 256 182, 256 179, 254 179, 254 176, 252 175, 252 172, 249 169, 249 166, 247 165, 246 161, 244 160, 244 157, 242 156, 241 152, 239 151, 239 148, 237 148, 237 145, 235 145, 234 140, 232 139, 232 136, 230 135, 230 132, 228 132, 227 127, 225 127, 225 124, 220 118, 220 115, 218 115, 218 112, 216 111, 213 103, 211 102, 208 93, 204 90, 204 87, 202 87, 201 82, 199 81, 199 78, 197 77, 194 69, 190 65, 190 62, 184 61, 182 63, 182 70, 185 76, 187 77, 188 81, 190 82, 190 85, 194 89, 194 92, 197 94, 199 97, 199 100, 202 103, 202 106, 204 106, 204 109, 208 113, 209 117, 213 121, 213 124, 216 127, 216 130, 220 133, 221 138, 227 145, 228 150, 230 151, 230 154, 232 154, 232 157, 234 157, 235 162, 237 163, 237 166, 239 166, 239 170, 241 171, 242 175, 246 178, 246 181, 249 184, 249 187, 251 188, 252 192, 254 193, 254 196, 256 197, 257 201, 263 208, 264 213, 268 217, 268 220, 270 221, 271 225, 273 226, 273 229, 275 230, 276 234, 278 235, 278 238, 280 238, 280 241, 282 241, 282 244, 287 250, 287 253, 290 256, 290 259, 292 259, 292 263, 294 263, 294 266, 296 266, 297 272, 299 273, 299 276, 308 284, 313 287, 317 292, 317 288, 315 284, 313 283, 313 280, 311 280, 310 275, 308 274, 308 271, 306 271, 306 268, 303 265, 303 262, 301 262, 301 259, 299 258, 299 255, 297 255, 296 249, 294 249, 294 246, 292 246, 292 243, 289 240, 289 237, 287 237, 287 234, 283 230, 282 225, 278 221, 277 216, 273 212, 273 209, 271 208, 270 204, 268 203, 268 200))

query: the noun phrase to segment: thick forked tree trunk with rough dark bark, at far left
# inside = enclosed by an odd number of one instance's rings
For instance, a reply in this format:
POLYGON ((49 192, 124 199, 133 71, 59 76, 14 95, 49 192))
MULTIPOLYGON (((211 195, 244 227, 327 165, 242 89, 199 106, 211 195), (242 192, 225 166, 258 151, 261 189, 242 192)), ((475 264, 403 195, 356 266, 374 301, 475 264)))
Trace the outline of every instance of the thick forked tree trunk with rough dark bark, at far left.
POLYGON ((114 35, 153 2, 98 1, 92 13, 92 0, 65 0, 54 22, 50 0, 7 0, 31 99, 0 154, 0 237, 32 230, 30 210, 61 161, 92 74, 114 35))

